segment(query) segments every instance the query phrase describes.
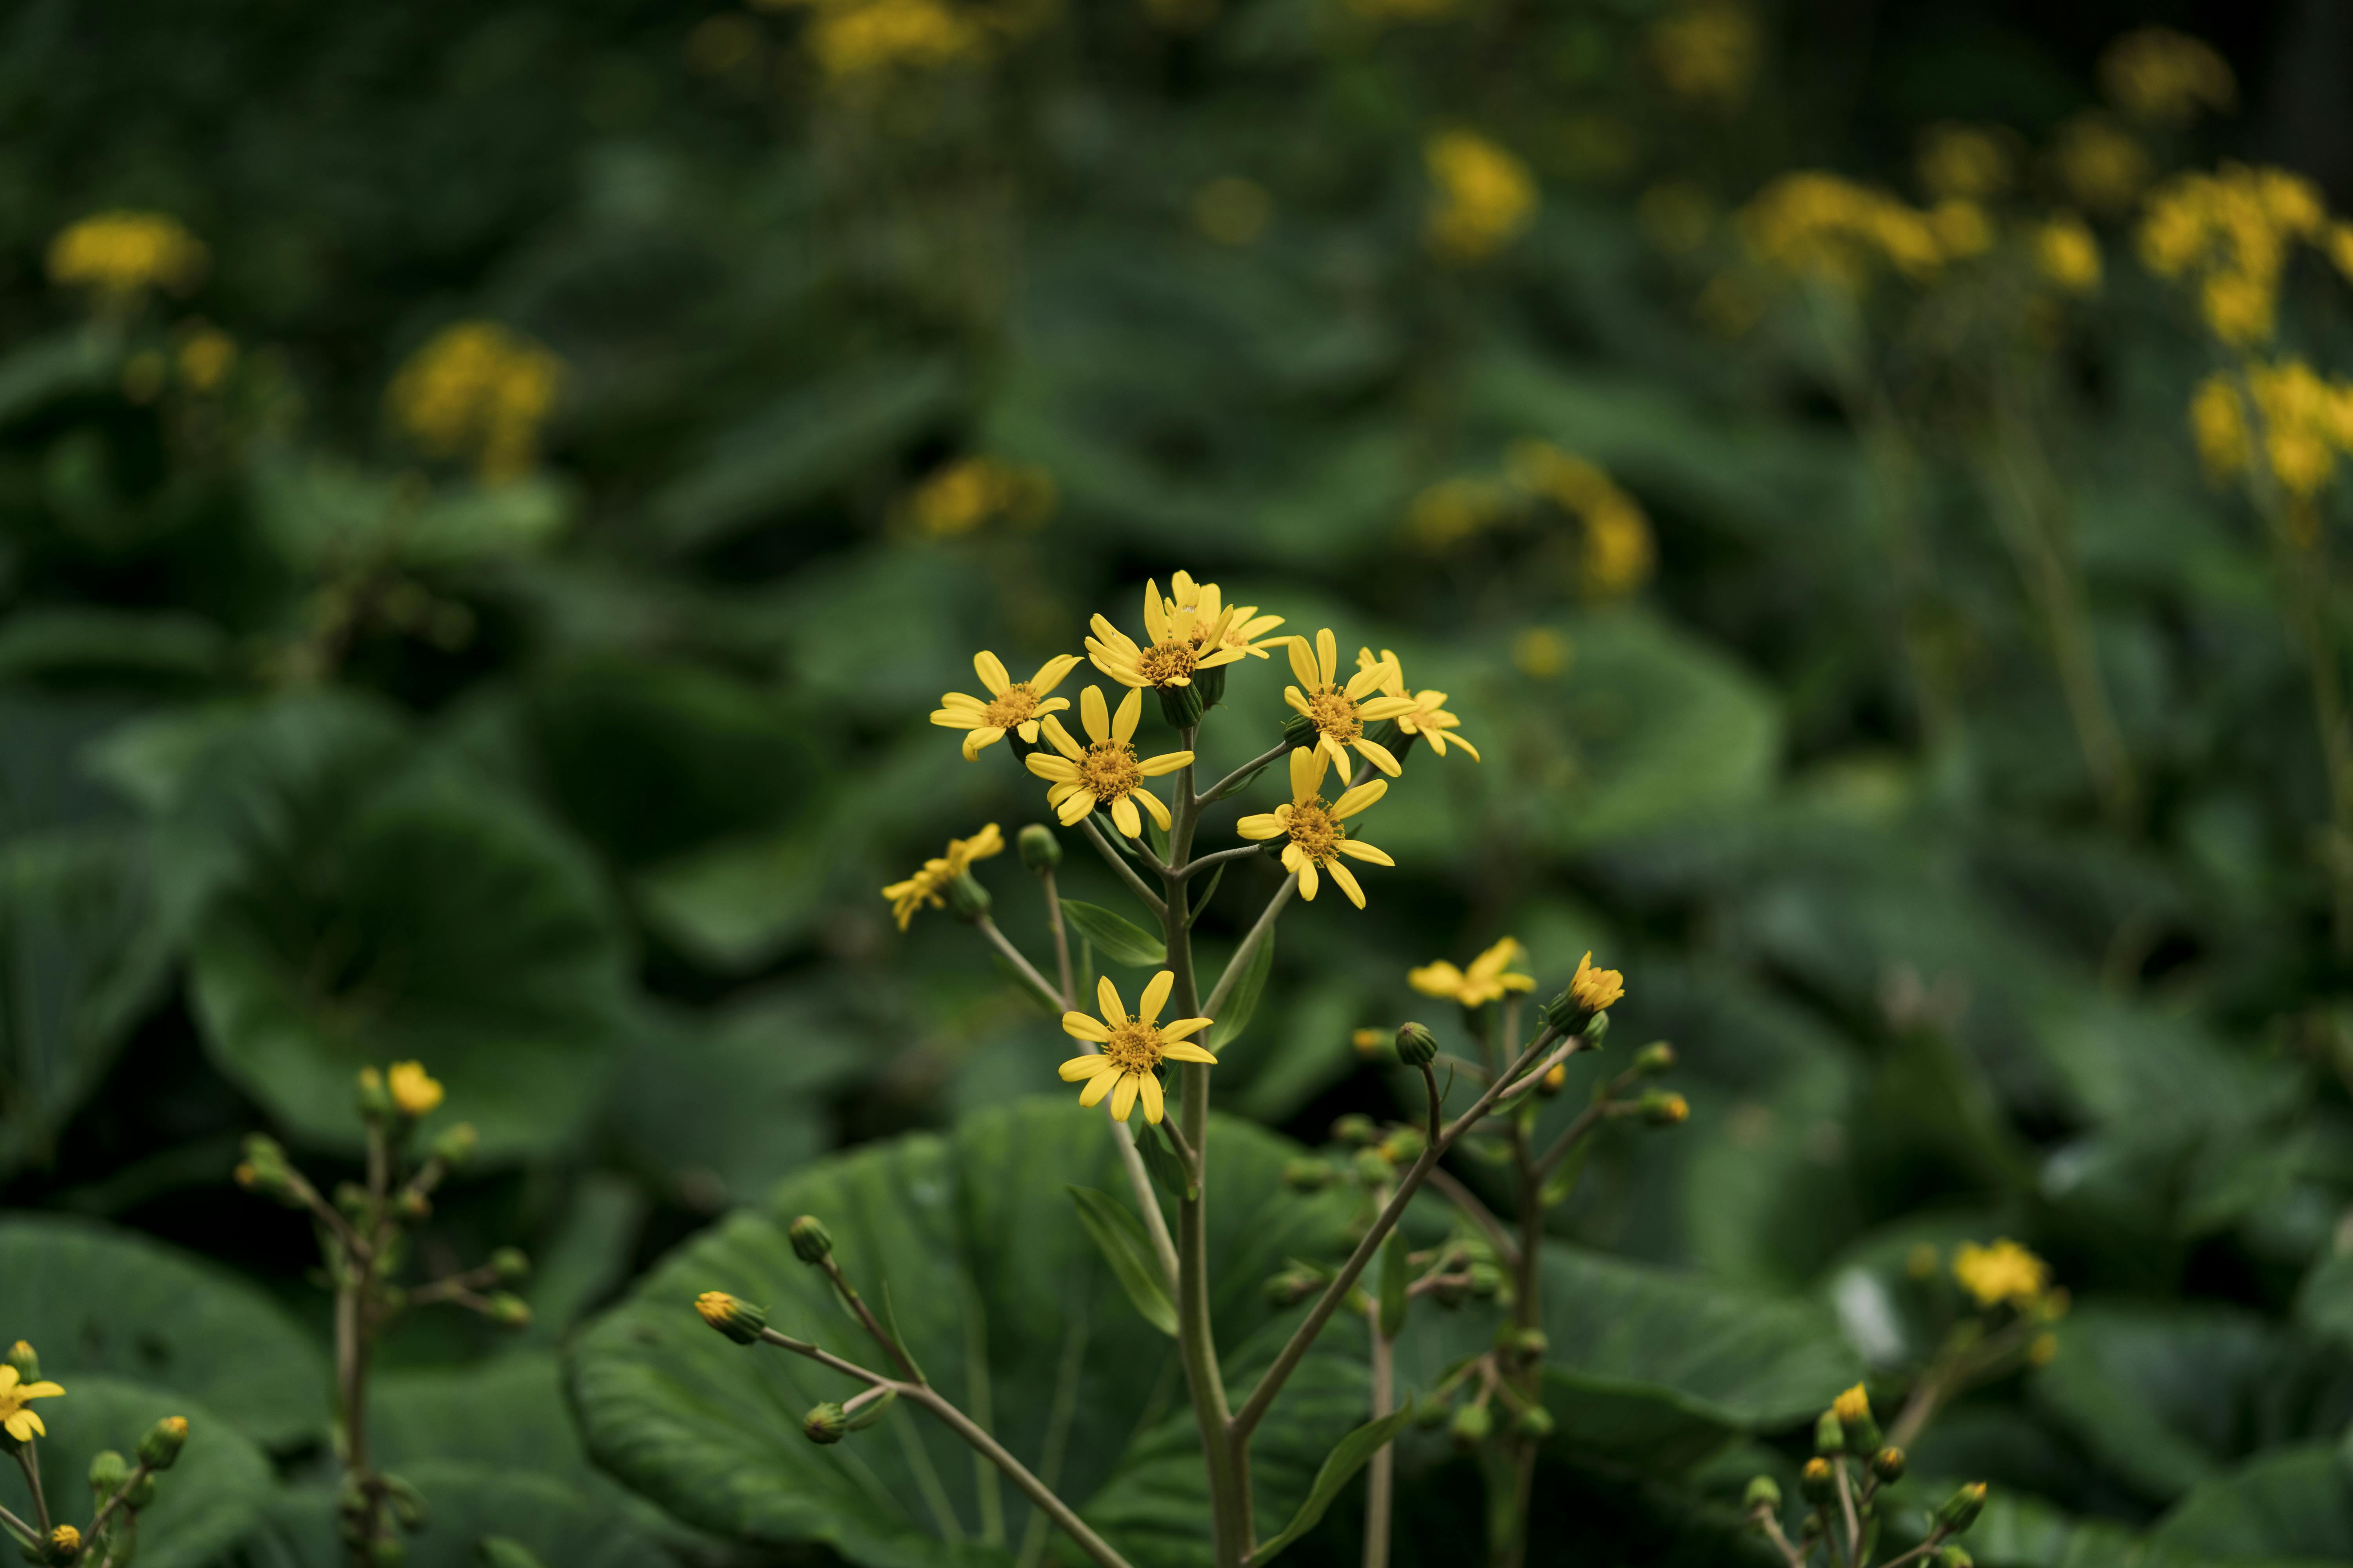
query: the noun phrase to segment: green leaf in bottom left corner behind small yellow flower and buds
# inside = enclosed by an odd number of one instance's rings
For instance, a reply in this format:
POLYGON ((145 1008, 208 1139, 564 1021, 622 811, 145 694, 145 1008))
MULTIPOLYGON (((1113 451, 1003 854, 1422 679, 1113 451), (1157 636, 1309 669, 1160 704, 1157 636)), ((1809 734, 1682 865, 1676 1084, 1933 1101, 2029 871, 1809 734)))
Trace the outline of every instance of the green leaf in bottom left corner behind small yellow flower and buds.
POLYGON ((179 1462, 155 1479, 155 1507, 139 1514, 139 1563, 202 1568, 261 1519, 273 1490, 271 1462, 226 1418, 179 1392, 75 1375, 54 1354, 42 1354, 40 1373, 66 1389, 61 1399, 35 1406, 49 1427, 49 1436, 40 1439, 40 1483, 56 1523, 87 1526, 96 1512, 89 1460, 106 1448, 129 1460, 148 1427, 167 1415, 186 1418, 188 1443, 179 1462))

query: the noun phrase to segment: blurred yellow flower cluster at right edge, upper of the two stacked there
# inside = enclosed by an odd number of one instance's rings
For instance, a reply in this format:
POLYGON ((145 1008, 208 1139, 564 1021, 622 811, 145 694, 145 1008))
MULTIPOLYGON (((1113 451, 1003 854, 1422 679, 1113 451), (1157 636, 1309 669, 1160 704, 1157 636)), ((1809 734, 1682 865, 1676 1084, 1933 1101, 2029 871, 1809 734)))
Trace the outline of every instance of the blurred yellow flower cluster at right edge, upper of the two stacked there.
POLYGON ((2151 273, 2198 282, 2207 331, 2233 348, 2271 339, 2299 240, 2353 277, 2353 226, 2332 223, 2320 188, 2287 169, 2226 162, 2214 174, 2179 174, 2148 200, 2139 240, 2151 273))

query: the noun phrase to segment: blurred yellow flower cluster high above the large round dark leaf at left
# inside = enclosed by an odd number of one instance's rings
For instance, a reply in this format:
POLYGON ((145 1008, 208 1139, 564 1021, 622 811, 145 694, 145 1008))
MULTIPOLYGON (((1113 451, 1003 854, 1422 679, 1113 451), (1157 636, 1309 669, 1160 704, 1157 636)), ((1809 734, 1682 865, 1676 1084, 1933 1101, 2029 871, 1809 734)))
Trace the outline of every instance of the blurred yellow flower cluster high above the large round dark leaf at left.
POLYGON ((393 421, 435 458, 468 458, 485 480, 539 461, 562 360, 496 322, 442 327, 393 376, 393 421))

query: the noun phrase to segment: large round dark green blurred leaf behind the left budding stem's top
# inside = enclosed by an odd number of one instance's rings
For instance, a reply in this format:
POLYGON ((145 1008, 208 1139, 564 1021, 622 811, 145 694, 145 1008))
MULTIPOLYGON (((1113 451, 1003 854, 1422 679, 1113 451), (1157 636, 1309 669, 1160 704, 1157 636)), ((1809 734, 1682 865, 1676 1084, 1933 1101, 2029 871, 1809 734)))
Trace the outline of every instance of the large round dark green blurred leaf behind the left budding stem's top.
POLYGON ((353 1145, 353 1074, 400 1058, 489 1154, 555 1145, 595 1105, 626 1027, 595 870, 388 715, 287 698, 214 731, 160 842, 205 1041, 304 1138, 353 1145))

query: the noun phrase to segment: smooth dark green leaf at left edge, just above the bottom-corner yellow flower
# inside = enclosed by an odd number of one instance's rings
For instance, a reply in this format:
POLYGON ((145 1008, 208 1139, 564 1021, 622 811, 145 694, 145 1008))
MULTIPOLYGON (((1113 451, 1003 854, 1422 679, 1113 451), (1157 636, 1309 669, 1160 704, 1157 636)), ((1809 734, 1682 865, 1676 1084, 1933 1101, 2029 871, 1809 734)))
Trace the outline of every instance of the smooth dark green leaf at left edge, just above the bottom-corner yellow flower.
POLYGON ((42 1373, 136 1380, 214 1410, 256 1443, 327 1427, 327 1356, 268 1295, 136 1232, 19 1213, 0 1220, 0 1335, 42 1373))

